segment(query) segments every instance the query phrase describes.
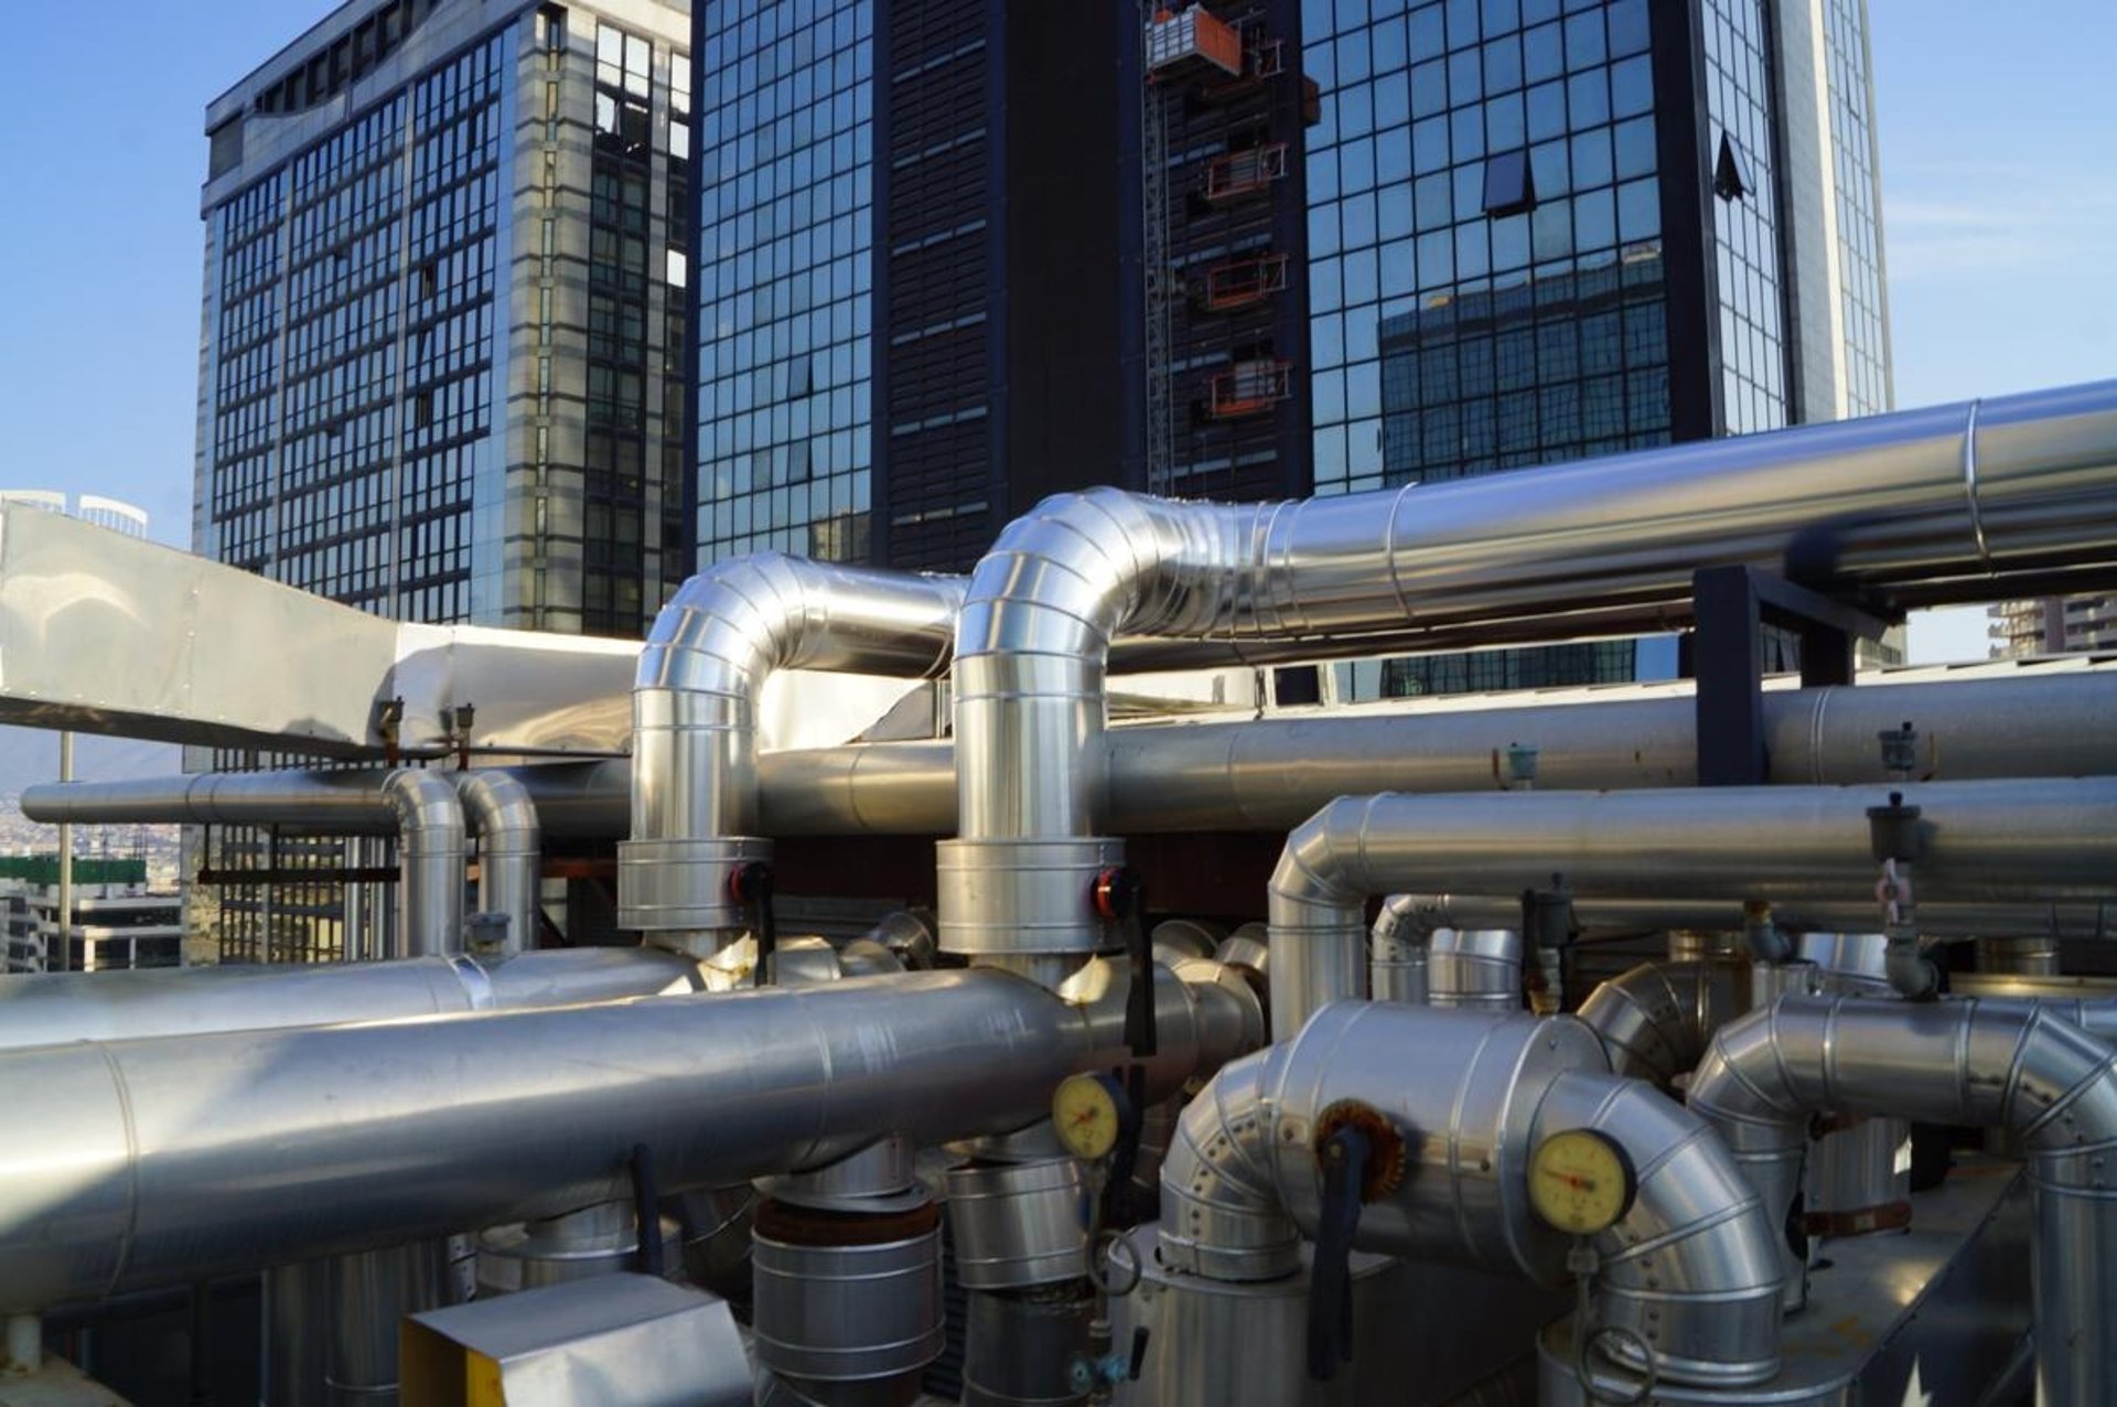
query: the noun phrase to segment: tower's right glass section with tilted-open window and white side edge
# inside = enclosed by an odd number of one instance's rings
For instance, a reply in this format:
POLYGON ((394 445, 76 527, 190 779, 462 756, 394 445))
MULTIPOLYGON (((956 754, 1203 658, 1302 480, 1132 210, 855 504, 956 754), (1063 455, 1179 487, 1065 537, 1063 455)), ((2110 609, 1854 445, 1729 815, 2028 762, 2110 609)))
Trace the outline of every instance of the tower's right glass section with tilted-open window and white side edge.
MULTIPOLYGON (((1306 0, 1319 493, 1890 408, 1863 0, 1306 0)), ((1630 679, 1666 643, 1393 660, 1630 679)))

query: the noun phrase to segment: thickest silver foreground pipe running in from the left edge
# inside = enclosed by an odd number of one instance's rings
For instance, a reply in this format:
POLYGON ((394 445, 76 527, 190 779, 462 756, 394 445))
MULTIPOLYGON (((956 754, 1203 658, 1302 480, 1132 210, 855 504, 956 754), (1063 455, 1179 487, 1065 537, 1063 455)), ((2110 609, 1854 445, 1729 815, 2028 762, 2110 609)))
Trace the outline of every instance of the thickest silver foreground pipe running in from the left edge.
MULTIPOLYGON (((1241 1045, 1217 986, 1156 982, 1152 1098, 1241 1045)), ((0 1056, 0 1312, 99 1299, 1037 1119, 1126 1058, 1124 984, 997 971, 0 1056), (269 1172, 265 1176, 263 1172, 269 1172)))

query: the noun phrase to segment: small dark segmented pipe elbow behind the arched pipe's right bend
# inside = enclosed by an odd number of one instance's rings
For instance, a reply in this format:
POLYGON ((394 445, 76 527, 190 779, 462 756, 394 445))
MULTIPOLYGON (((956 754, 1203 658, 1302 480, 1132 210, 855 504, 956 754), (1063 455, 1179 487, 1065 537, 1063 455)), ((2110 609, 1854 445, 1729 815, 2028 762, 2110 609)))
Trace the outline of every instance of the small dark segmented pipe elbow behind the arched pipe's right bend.
POLYGON ((1744 958, 1641 963, 1588 992, 1579 1018, 1603 1037, 1613 1073, 1670 1090, 1749 1005, 1744 958))

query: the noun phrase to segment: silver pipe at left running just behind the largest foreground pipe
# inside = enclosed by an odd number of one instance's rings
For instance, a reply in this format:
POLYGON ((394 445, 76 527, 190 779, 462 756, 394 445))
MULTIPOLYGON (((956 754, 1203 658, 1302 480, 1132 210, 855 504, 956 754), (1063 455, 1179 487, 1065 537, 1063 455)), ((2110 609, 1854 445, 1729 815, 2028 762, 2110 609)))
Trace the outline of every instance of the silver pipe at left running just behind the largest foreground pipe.
POLYGON ((705 990, 654 948, 550 948, 506 963, 402 958, 0 977, 0 1049, 569 1007, 705 990))

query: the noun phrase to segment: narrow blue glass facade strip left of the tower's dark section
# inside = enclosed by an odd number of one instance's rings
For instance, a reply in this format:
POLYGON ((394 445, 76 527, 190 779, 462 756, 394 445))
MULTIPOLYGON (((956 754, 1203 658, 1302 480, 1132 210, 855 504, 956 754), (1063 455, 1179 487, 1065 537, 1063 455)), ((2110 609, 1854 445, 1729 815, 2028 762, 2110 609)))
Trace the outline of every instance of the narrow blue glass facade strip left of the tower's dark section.
POLYGON ((874 0, 701 0, 699 561, 868 556, 874 0))

